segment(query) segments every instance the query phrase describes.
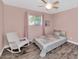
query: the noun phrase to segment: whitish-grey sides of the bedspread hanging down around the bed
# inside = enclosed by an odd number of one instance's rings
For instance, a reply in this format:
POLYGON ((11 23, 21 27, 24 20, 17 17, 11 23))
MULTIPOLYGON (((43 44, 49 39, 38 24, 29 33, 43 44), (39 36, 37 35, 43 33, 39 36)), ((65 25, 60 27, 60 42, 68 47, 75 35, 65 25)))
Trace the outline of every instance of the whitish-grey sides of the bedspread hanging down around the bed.
POLYGON ((55 49, 56 47, 64 44, 65 42, 67 42, 67 39, 66 39, 66 37, 61 37, 59 39, 54 39, 53 41, 47 42, 47 43, 44 43, 44 41, 45 41, 45 39, 42 39, 42 38, 34 39, 34 43, 41 50, 41 53, 40 53, 41 57, 44 57, 47 52, 51 51, 52 49, 55 49))

